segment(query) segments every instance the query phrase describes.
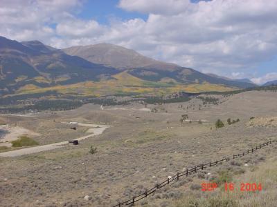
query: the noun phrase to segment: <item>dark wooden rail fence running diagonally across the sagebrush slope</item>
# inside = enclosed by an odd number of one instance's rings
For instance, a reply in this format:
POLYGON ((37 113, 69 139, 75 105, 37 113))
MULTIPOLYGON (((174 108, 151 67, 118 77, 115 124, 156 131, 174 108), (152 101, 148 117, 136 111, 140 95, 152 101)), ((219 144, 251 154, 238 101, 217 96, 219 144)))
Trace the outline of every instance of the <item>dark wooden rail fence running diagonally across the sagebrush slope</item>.
POLYGON ((134 205, 137 201, 140 201, 141 199, 144 199, 145 197, 148 197, 152 193, 155 193, 158 189, 163 188, 164 186, 167 186, 172 181, 179 181, 180 177, 183 177, 183 176, 187 177, 190 174, 196 173, 198 170, 204 170, 204 168, 217 166, 218 164, 222 164, 224 162, 230 161, 231 159, 237 159, 239 157, 243 157, 245 155, 248 155, 249 153, 253 153, 256 150, 259 150, 260 148, 268 146, 269 144, 272 144, 273 142, 274 141, 269 140, 269 141, 267 141, 263 144, 260 144, 259 146, 256 146, 255 148, 248 149, 248 150, 242 152, 241 154, 233 155, 232 158, 226 157, 226 158, 216 160, 216 161, 213 161, 213 162, 209 162, 209 163, 206 163, 206 164, 199 164, 199 165, 197 165, 193 168, 187 168, 184 171, 177 172, 176 175, 173 175, 172 177, 168 177, 168 179, 161 182, 160 184, 157 184, 153 188, 150 188, 149 190, 145 190, 145 193, 141 193, 141 195, 137 195, 135 197, 132 197, 132 199, 129 199, 127 201, 119 202, 118 204, 116 204, 115 206, 112 206, 112 207, 122 207, 122 206, 134 205))

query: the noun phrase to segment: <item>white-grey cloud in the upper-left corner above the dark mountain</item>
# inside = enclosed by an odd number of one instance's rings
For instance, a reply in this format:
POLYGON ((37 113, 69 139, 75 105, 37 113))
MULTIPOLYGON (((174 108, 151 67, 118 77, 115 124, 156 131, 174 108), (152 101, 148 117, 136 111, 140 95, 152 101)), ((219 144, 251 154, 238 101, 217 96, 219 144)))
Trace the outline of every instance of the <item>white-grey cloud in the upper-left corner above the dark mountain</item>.
POLYGON ((18 41, 45 41, 56 35, 51 24, 73 17, 78 0, 0 0, 0 35, 18 41))

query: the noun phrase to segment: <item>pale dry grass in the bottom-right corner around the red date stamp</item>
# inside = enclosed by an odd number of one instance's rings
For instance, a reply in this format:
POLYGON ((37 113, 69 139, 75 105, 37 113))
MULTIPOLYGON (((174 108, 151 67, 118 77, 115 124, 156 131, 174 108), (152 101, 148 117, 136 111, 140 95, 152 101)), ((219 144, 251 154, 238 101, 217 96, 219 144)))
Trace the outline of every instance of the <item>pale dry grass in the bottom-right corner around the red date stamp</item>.
MULTIPOLYGON (((208 182, 208 181, 202 181, 208 182)), ((229 181, 230 182, 230 181, 229 181)), ((215 192, 187 191, 180 199, 170 199, 168 206, 175 207, 260 207, 276 206, 277 159, 273 157, 255 168, 233 177, 235 190, 226 192, 218 188, 215 192), (255 169, 255 170, 253 170, 255 169), (241 184, 262 184, 261 191, 241 191, 241 184)))

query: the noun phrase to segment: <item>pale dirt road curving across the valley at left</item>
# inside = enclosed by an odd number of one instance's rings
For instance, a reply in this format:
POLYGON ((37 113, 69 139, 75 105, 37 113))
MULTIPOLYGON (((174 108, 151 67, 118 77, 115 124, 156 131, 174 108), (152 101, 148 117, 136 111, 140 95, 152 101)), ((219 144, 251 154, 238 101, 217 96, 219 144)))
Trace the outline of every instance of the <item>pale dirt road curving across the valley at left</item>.
MULTIPOLYGON (((87 132, 89 132, 89 135, 83 136, 83 137, 79 137, 76 140, 80 141, 83 139, 87 139, 89 137, 93 137, 96 135, 101 135, 102 132, 104 132, 104 130, 106 128, 109 128, 110 126, 108 125, 100 125, 100 124, 82 124, 82 123, 78 123, 79 126, 89 126, 92 128, 89 128, 89 130, 87 130, 87 132)), ((46 150, 54 150, 56 148, 62 148, 64 147, 66 144, 69 144, 68 141, 62 141, 62 142, 57 142, 57 143, 53 143, 53 144, 46 144, 46 145, 42 145, 42 146, 34 146, 34 147, 30 147, 30 148, 24 148, 24 149, 20 149, 20 150, 12 150, 12 151, 8 151, 8 152, 1 152, 0 156, 1 157, 17 157, 17 156, 21 156, 21 155, 29 155, 32 153, 36 153, 36 152, 43 152, 46 150)))

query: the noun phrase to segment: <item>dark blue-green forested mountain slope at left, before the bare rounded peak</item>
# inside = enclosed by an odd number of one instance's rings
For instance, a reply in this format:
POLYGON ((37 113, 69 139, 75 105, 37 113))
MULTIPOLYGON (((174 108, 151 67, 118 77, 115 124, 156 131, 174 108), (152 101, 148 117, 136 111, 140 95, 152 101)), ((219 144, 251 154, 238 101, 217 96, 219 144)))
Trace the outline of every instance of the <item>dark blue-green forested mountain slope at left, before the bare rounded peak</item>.
POLYGON ((98 81, 118 70, 66 55, 39 41, 19 43, 0 37, 0 88, 10 94, 32 84, 37 87, 98 81))

